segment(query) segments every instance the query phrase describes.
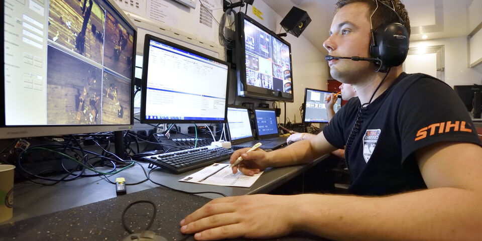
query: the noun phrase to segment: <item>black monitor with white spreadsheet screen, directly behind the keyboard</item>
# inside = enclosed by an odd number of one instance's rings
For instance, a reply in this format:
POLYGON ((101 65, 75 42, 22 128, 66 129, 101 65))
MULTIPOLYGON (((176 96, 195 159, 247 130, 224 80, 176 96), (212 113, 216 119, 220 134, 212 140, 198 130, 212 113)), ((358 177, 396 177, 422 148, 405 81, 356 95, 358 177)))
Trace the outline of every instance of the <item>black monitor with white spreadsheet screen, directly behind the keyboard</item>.
POLYGON ((229 64, 146 35, 142 123, 225 123, 229 64))

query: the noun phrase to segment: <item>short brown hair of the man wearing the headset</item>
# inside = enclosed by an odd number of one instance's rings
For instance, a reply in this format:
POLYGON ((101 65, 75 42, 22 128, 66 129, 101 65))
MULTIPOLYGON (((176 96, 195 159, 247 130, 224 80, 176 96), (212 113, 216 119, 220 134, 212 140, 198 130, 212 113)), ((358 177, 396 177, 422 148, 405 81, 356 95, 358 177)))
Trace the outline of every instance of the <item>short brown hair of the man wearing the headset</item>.
POLYGON ((405 5, 402 4, 400 0, 393 0, 393 1, 390 1, 390 0, 338 0, 338 2, 335 4, 336 6, 335 12, 337 12, 343 6, 348 4, 365 3, 369 6, 368 19, 370 20, 370 15, 372 15, 373 11, 375 11, 375 9, 377 8, 376 1, 379 1, 379 3, 378 3, 377 12, 375 12, 375 14, 372 17, 373 29, 375 30, 378 27, 385 24, 400 23, 400 19, 395 14, 395 12, 393 12, 393 10, 390 10, 387 6, 380 3, 380 2, 383 2, 384 4, 390 6, 390 8, 392 8, 392 6, 395 6, 395 11, 397 11, 398 15, 400 15, 400 18, 405 22, 403 25, 405 26, 405 28, 407 28, 408 36, 410 37, 410 20, 408 19, 408 12, 405 9, 405 5))

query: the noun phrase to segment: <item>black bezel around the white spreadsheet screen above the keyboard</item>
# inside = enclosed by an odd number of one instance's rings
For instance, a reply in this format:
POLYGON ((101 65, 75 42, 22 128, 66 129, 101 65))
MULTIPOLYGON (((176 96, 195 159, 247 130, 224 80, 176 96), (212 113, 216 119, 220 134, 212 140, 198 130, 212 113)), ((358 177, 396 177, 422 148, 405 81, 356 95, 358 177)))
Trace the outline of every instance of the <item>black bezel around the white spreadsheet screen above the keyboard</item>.
POLYGON ((167 41, 165 39, 161 39, 159 37, 146 34, 144 38, 144 54, 143 54, 143 65, 142 65, 142 86, 141 86, 141 123, 147 123, 147 124, 210 124, 210 123, 226 123, 227 120, 227 105, 228 105, 228 99, 229 99, 229 72, 230 72, 231 65, 223 60, 211 57, 207 54, 203 54, 201 52, 195 51, 193 49, 189 49, 187 47, 184 47, 182 45, 167 41), (227 66, 227 75, 226 75, 226 100, 224 104, 224 119, 222 121, 206 121, 206 120, 192 120, 192 119, 146 119, 146 90, 147 90, 147 71, 149 70, 149 65, 148 65, 148 60, 149 60, 149 47, 150 47, 150 41, 154 40, 162 44, 169 45, 171 47, 198 55, 200 57, 225 64, 227 66))

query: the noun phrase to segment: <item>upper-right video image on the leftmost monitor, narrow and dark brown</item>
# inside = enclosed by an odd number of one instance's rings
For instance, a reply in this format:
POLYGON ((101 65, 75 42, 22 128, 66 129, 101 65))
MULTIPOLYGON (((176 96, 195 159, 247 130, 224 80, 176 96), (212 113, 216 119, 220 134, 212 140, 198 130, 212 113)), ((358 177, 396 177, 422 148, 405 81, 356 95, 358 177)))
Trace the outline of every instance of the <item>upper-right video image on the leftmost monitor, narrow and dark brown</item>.
POLYGON ((134 36, 108 12, 105 21, 104 66, 131 78, 134 36))

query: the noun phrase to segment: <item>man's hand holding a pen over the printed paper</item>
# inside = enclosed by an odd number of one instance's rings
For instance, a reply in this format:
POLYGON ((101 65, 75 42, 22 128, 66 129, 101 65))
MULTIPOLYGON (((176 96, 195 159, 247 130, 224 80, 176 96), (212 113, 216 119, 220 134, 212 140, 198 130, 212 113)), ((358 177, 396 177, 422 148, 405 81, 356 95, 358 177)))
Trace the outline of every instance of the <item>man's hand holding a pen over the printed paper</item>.
POLYGON ((268 153, 262 149, 258 149, 254 152, 248 152, 250 148, 243 148, 235 151, 229 160, 229 164, 233 164, 236 159, 241 156, 243 161, 232 167, 232 173, 236 173, 238 170, 245 175, 253 176, 259 173, 261 170, 269 167, 268 153))

